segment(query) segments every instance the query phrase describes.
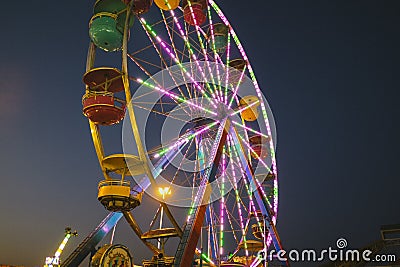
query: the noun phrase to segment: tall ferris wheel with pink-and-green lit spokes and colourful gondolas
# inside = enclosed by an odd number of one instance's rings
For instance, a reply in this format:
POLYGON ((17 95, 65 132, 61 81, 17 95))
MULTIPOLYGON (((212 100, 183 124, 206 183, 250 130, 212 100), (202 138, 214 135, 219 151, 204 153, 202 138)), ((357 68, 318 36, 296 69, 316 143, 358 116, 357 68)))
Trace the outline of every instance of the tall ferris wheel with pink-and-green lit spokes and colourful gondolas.
POLYGON ((143 265, 259 266, 260 251, 281 250, 272 113, 217 3, 97 0, 89 36, 98 199, 155 255, 143 265))

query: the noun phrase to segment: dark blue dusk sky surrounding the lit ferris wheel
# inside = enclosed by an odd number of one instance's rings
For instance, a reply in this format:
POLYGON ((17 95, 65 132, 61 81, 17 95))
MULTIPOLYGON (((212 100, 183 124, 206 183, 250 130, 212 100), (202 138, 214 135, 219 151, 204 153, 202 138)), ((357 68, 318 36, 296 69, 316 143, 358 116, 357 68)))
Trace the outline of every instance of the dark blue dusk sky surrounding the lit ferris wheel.
MULTIPOLYGON (((67 256, 107 214, 81 110, 93 3, 3 3, 0 264, 43 265, 71 226, 67 256)), ((400 223, 400 2, 217 3, 274 112, 284 246, 359 247, 400 223)))

